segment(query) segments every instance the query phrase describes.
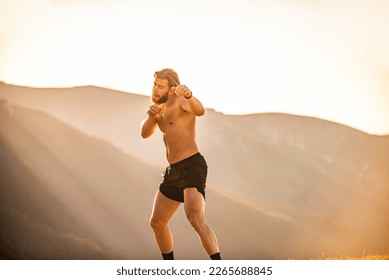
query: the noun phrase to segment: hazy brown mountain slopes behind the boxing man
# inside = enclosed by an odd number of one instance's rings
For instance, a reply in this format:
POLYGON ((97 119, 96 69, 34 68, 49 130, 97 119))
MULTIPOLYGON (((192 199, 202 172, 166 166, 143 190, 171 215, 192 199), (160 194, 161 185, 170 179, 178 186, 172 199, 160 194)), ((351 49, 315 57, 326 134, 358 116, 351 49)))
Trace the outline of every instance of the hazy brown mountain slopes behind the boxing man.
MULTIPOLYGON (((149 98, 0 84, 3 258, 159 259, 148 226, 166 165, 149 98)), ((389 137, 286 114, 207 110, 207 217, 227 259, 389 254, 389 137)), ((176 255, 206 259, 182 209, 176 255)))

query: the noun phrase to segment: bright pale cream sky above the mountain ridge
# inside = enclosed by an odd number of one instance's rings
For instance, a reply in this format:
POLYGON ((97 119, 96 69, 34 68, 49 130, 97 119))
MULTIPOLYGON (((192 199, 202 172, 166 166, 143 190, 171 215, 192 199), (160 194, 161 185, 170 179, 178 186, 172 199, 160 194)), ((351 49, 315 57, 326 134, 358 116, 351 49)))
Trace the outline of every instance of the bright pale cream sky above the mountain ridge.
POLYGON ((175 69, 208 108, 389 134, 389 1, 0 0, 0 80, 149 95, 175 69))

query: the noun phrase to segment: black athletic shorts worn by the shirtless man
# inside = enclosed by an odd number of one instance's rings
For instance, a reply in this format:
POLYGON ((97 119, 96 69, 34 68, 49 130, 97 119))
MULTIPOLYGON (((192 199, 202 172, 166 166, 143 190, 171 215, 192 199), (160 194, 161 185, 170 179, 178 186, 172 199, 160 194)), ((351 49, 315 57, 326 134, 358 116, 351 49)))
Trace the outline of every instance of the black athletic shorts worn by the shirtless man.
POLYGON ((166 168, 162 173, 163 181, 159 190, 170 199, 184 202, 184 189, 196 188, 205 199, 207 173, 208 166, 204 157, 200 153, 194 154, 166 168))

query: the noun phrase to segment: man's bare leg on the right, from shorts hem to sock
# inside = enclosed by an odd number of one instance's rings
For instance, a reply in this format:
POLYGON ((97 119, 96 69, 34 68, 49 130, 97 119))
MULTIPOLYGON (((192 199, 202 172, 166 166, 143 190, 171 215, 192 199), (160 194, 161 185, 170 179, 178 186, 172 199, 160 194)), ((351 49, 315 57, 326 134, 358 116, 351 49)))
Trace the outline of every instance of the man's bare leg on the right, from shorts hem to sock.
POLYGON ((209 256, 219 253, 219 245, 215 234, 205 221, 205 201, 196 188, 184 190, 185 214, 198 234, 201 244, 209 256))

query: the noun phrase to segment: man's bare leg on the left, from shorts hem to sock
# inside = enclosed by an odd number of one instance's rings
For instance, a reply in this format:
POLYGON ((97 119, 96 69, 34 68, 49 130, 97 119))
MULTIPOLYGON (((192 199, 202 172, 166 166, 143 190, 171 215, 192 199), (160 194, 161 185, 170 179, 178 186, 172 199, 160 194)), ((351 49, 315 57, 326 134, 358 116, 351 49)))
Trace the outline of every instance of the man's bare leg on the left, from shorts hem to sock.
POLYGON ((155 240, 162 254, 173 251, 173 238, 168 223, 178 206, 180 206, 180 202, 167 198, 160 191, 157 192, 150 225, 153 228, 155 240))

